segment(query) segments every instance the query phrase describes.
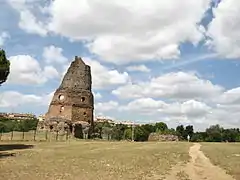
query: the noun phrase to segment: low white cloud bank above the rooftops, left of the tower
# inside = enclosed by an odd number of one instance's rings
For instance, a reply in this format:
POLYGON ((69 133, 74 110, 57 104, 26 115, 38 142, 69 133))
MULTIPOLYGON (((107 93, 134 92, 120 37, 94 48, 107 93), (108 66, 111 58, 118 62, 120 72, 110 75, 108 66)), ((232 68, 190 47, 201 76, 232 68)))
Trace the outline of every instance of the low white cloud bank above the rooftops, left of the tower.
POLYGON ((53 93, 38 96, 34 94, 22 94, 17 91, 5 91, 0 93, 0 107, 12 108, 20 105, 46 106, 50 102, 52 95, 53 93))

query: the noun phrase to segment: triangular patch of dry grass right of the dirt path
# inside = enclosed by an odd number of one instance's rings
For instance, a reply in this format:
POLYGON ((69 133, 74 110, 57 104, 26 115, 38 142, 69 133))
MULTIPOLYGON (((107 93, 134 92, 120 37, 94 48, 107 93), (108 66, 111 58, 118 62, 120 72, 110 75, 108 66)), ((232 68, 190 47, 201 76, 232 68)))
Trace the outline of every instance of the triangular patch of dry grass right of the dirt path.
POLYGON ((240 143, 202 143, 201 150, 214 165, 240 179, 240 143))

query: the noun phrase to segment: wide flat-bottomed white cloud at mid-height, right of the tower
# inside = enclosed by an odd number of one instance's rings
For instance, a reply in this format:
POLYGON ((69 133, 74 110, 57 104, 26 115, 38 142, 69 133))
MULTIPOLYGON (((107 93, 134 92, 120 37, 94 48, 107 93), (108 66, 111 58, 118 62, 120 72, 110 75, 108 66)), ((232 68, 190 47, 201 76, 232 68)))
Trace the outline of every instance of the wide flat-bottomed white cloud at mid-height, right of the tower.
POLYGON ((218 96, 223 88, 196 74, 168 73, 149 82, 126 84, 112 91, 119 98, 157 97, 169 99, 207 99, 218 96))

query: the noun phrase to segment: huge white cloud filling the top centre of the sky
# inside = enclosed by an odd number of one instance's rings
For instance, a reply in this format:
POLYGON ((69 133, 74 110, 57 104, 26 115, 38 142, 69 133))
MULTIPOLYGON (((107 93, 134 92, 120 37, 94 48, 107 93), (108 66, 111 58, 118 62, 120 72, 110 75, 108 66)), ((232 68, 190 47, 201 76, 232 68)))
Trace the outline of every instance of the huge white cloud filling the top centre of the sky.
POLYGON ((49 31, 85 40, 89 50, 102 60, 126 64, 178 58, 182 42, 196 45, 203 39, 204 28, 198 23, 210 0, 54 0, 40 8, 50 16, 43 22, 30 13, 33 8, 26 8, 27 2, 11 4, 21 12, 20 25, 25 26, 20 27, 27 32, 46 35, 44 24, 48 23, 49 31), (29 24, 24 23, 27 20, 29 24))

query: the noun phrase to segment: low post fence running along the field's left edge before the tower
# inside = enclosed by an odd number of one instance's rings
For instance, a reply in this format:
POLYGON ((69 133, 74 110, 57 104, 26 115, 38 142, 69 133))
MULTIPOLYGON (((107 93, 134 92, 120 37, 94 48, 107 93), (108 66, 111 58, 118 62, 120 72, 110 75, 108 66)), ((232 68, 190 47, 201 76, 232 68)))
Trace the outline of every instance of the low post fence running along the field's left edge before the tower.
POLYGON ((69 133, 51 132, 47 130, 0 133, 0 141, 68 141, 72 138, 69 133))

